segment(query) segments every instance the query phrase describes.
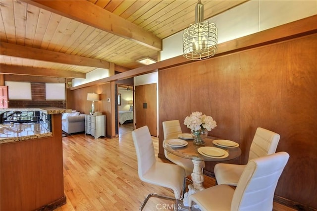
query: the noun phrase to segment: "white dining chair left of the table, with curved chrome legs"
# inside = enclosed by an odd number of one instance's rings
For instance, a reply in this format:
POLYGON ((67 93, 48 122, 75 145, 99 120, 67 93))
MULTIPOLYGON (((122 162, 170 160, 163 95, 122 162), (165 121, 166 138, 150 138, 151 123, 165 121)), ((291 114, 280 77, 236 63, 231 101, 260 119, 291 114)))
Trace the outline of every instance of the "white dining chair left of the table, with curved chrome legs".
POLYGON ((174 197, 150 193, 143 201, 140 210, 151 197, 175 200, 175 208, 178 208, 179 200, 183 198, 185 189, 185 170, 181 166, 156 160, 154 146, 148 126, 140 127, 132 131, 133 143, 138 160, 138 174, 142 181, 170 188, 174 197))

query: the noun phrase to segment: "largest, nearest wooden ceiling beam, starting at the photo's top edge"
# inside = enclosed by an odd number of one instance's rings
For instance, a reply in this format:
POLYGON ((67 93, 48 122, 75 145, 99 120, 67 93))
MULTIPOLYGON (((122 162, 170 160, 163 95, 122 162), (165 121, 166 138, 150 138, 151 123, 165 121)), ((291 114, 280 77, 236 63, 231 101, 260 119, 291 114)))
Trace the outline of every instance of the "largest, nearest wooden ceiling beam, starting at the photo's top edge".
POLYGON ((162 50, 162 40, 153 33, 87 0, 23 0, 50 12, 85 23, 143 46, 162 50))

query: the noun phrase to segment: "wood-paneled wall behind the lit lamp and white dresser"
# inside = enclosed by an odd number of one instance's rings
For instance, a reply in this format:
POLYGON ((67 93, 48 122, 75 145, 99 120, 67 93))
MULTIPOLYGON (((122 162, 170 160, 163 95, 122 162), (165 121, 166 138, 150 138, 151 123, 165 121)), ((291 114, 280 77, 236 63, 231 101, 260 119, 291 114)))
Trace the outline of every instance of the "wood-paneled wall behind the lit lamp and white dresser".
POLYGON ((115 117, 114 117, 114 82, 103 85, 96 85, 78 90, 67 90, 67 108, 89 113, 91 101, 87 101, 87 93, 97 93, 100 101, 95 102, 95 110, 102 111, 106 115, 106 135, 115 136, 115 117), (110 99, 110 102, 107 101, 110 99), (112 117, 112 118, 111 118, 112 117))

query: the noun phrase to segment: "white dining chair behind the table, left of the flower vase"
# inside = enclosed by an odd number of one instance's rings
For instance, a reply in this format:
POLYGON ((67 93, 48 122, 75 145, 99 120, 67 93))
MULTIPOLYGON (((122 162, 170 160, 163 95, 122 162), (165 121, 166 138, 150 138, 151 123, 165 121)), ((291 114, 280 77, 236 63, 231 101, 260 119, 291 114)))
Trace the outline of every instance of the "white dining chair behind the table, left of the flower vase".
MULTIPOLYGON (((178 139, 178 135, 182 133, 182 128, 180 126, 179 120, 169 120, 169 121, 163 121, 163 134, 164 134, 164 140, 167 139, 178 139)), ((169 161, 182 166, 185 169, 186 176, 191 175, 194 169, 194 164, 191 159, 187 158, 181 158, 179 156, 173 155, 169 152, 167 152, 164 149, 164 156, 169 161)), ((204 163, 205 167, 205 163, 204 163)))

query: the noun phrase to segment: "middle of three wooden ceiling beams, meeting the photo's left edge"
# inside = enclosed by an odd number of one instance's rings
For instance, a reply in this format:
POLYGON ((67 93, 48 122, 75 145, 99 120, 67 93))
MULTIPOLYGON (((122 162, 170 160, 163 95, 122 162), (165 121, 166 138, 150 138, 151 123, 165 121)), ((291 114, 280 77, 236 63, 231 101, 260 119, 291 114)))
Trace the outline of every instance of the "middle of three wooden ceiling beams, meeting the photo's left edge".
POLYGON ((0 43, 0 54, 76 66, 88 66, 109 69, 109 62, 104 60, 52 52, 44 49, 36 49, 5 42, 0 43))

